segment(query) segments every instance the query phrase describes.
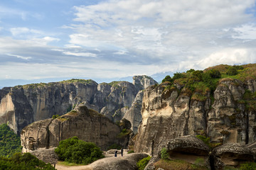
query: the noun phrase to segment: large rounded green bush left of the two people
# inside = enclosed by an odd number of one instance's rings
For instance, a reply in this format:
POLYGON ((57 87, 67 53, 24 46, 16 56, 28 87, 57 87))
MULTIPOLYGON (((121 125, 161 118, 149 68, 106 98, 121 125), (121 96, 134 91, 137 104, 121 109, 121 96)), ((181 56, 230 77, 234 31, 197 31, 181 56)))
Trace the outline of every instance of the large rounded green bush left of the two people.
POLYGON ((104 157, 100 147, 92 142, 78 140, 78 137, 60 141, 55 153, 61 161, 75 164, 90 164, 104 157))

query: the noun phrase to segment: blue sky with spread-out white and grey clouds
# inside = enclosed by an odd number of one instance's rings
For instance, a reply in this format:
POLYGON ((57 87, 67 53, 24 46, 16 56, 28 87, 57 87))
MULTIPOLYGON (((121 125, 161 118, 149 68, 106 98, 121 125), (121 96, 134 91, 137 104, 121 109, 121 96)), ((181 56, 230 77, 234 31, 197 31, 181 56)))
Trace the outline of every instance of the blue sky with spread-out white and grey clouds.
POLYGON ((1 0, 0 86, 256 62, 253 0, 1 0))

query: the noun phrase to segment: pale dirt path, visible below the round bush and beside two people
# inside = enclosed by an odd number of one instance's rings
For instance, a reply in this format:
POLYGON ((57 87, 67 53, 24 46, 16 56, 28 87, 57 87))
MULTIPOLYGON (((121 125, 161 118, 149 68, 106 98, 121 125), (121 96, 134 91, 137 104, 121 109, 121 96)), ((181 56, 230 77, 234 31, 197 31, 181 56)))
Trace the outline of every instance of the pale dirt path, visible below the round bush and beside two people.
MULTIPOLYGON (((124 155, 127 154, 127 149, 124 149, 124 155)), ((105 153, 105 158, 114 157, 114 154, 105 153)), ((118 152, 117 157, 121 157, 120 152, 118 152)), ((103 159, 105 159, 103 158, 103 159)), ((56 164, 55 169, 57 170, 92 170, 90 164, 89 165, 78 165, 78 166, 64 166, 60 164, 56 164)))

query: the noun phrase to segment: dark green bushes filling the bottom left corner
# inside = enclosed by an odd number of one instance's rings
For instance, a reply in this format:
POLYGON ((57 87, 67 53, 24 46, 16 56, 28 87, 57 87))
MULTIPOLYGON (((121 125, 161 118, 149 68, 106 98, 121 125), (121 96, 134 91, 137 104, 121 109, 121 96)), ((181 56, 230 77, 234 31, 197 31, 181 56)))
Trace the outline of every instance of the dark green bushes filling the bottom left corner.
POLYGON ((16 153, 12 157, 0 157, 0 170, 21 169, 21 170, 51 170, 53 166, 37 159, 30 153, 16 153))

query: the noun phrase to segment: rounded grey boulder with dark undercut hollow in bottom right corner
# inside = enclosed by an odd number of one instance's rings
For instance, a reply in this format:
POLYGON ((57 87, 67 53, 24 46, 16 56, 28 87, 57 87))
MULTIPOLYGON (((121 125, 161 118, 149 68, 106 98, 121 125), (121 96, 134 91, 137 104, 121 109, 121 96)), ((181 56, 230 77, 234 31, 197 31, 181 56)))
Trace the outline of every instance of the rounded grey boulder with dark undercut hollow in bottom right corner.
POLYGON ((226 143, 213 149, 210 155, 214 169, 224 169, 225 166, 238 167, 240 163, 254 162, 254 154, 246 145, 226 143))

